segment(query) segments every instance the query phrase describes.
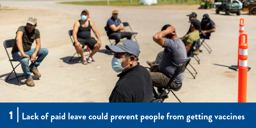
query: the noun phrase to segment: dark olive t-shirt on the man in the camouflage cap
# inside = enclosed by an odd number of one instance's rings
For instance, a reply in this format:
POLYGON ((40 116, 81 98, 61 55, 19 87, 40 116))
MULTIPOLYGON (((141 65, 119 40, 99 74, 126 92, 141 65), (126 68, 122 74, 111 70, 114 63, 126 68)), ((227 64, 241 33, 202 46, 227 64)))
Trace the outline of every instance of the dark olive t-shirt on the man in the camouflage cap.
MULTIPOLYGON (((40 38, 40 32, 38 29, 34 29, 31 33, 28 32, 26 29, 26 26, 20 26, 17 30, 17 32, 21 31, 23 33, 22 35, 22 45, 24 52, 29 51, 31 49, 32 43, 35 41, 35 39, 40 38)), ((16 34, 17 34, 16 32, 16 34)), ((12 53, 19 51, 17 44, 16 44, 16 37, 15 42, 12 47, 12 53)))

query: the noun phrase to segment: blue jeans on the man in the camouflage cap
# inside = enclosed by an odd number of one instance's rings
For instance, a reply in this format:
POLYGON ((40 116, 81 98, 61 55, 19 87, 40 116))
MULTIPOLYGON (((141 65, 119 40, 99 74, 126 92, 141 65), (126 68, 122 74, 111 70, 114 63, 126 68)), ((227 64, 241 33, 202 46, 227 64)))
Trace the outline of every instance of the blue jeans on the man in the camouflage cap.
MULTIPOLYGON (((31 57, 34 54, 34 52, 35 52, 35 49, 30 49, 29 51, 24 52, 24 53, 26 55, 28 55, 29 57, 31 57)), ((48 50, 45 48, 41 48, 36 55, 36 56, 38 56, 36 61, 31 64, 31 67, 37 68, 37 66, 39 66, 39 64, 43 61, 43 59, 45 58, 45 56, 47 54, 48 54, 48 50)), ((22 68, 22 71, 24 72, 24 74, 23 74, 24 77, 26 79, 31 78, 32 77, 31 72, 29 72, 29 59, 28 59, 28 57, 23 57, 20 59, 20 56, 21 56, 20 52, 12 53, 12 58, 21 63, 21 68, 22 68)))

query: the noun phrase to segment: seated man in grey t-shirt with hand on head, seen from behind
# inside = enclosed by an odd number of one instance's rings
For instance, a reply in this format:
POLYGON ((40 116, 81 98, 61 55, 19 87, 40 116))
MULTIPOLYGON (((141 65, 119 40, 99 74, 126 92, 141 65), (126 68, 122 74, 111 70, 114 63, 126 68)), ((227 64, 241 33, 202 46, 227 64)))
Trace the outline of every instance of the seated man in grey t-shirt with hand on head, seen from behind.
MULTIPOLYGON (((154 72, 149 72, 153 86, 157 87, 157 94, 160 95, 164 91, 163 88, 166 87, 170 78, 172 78, 175 69, 187 59, 187 52, 184 43, 176 35, 173 26, 169 26, 166 30, 155 34, 153 40, 164 48, 163 58, 161 59, 159 66, 153 70, 154 72)), ((170 88, 179 88, 184 76, 185 72, 178 74, 171 83, 170 88)), ((168 95, 166 91, 164 91, 160 98, 167 97, 168 95)))

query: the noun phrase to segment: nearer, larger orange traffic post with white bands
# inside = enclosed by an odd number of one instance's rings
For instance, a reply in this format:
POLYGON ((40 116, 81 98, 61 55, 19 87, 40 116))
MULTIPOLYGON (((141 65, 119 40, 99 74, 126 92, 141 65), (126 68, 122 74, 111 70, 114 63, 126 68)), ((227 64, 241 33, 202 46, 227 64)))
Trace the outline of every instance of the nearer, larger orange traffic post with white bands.
POLYGON ((239 44, 239 66, 238 66, 238 102, 246 102, 247 92, 247 58, 248 58, 248 44, 247 34, 240 34, 239 44), (245 37, 245 42, 244 42, 245 37))

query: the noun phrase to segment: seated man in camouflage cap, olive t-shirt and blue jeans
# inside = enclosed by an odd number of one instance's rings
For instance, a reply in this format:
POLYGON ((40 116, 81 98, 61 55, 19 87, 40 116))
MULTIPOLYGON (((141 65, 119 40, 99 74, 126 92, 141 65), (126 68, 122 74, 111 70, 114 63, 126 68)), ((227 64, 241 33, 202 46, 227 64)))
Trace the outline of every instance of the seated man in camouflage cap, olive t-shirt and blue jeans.
POLYGON ((35 27, 37 26, 37 19, 30 17, 27 20, 26 26, 20 26, 16 32, 15 43, 12 47, 12 58, 21 63, 24 77, 27 79, 27 85, 35 86, 31 72, 36 77, 41 77, 37 66, 43 61, 48 54, 48 50, 41 49, 40 32, 35 27), (32 43, 36 40, 36 48, 31 49, 32 43), (37 59, 36 59, 36 56, 37 59), (29 60, 32 64, 29 66, 29 60))

